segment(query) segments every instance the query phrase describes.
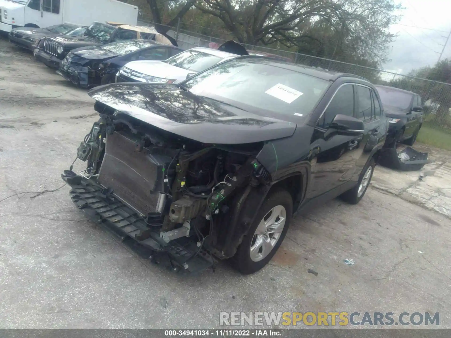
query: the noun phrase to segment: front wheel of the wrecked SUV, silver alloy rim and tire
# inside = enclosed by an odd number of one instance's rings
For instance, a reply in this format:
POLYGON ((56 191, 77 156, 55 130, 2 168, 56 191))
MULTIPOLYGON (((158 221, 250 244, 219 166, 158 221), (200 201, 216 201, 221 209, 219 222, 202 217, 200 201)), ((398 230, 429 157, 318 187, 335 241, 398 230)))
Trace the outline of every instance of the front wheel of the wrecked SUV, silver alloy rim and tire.
POLYGON ((231 258, 231 265, 242 274, 253 274, 262 269, 263 266, 267 265, 285 238, 292 215, 293 201, 290 193, 286 190, 276 190, 270 193, 265 201, 263 201, 253 224, 249 228, 249 232, 244 236, 235 256, 231 258), (269 214, 270 212, 276 212, 277 215, 279 215, 275 219, 275 223, 279 223, 277 219, 281 220, 281 218, 283 218, 280 216, 285 216, 285 223, 282 225, 282 231, 274 233, 266 232, 266 235, 261 234, 260 237, 260 234, 256 234, 259 225, 261 228, 259 229, 259 232, 261 232, 263 228, 266 229, 266 231, 271 231, 271 223, 267 225, 267 228, 264 223, 262 223, 265 221, 265 218, 266 221, 272 219, 272 214, 269 214), (275 238, 277 235, 278 237, 275 238), (265 240, 265 238, 267 240, 265 240), (257 242, 259 239, 263 241, 260 245, 257 242), (274 239, 275 241, 273 241, 274 239), (267 244, 265 245, 265 243, 267 244), (254 250, 251 254, 252 247, 254 247, 254 250), (264 248, 267 250, 266 253, 264 248))

